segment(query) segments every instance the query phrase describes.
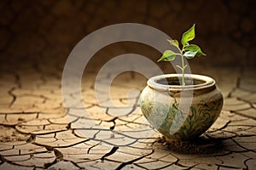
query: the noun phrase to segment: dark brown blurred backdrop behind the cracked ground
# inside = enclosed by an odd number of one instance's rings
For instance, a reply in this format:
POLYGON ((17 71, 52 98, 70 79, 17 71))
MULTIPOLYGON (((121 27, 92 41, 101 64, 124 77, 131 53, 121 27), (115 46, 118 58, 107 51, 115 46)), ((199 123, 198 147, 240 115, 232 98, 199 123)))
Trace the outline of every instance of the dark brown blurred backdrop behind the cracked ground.
MULTIPOLYGON (((256 10, 248 0, 10 0, 1 1, 0 13, 2 71, 27 65, 54 65, 61 70, 83 37, 122 22, 154 26, 177 39, 196 23, 194 42, 207 57, 190 63, 232 67, 256 63, 256 10)), ((103 48, 91 62, 100 67, 109 58, 125 53, 144 54, 153 60, 160 57, 154 49, 124 42, 103 48)))

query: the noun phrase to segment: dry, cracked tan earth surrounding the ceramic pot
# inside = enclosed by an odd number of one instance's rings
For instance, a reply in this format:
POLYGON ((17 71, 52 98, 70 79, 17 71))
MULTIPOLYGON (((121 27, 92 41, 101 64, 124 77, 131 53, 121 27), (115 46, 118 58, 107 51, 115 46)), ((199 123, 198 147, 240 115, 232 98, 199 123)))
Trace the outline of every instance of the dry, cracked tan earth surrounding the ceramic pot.
POLYGON ((256 167, 253 70, 192 67, 216 79, 224 94, 223 111, 198 141, 166 144, 138 108, 139 93, 129 94, 131 88, 144 88, 145 77, 133 72, 116 77, 110 89, 114 105, 108 105, 97 100, 96 74, 89 72, 82 83, 84 109, 74 102, 65 110, 61 69, 56 68, 32 65, 1 74, 0 169, 256 167))

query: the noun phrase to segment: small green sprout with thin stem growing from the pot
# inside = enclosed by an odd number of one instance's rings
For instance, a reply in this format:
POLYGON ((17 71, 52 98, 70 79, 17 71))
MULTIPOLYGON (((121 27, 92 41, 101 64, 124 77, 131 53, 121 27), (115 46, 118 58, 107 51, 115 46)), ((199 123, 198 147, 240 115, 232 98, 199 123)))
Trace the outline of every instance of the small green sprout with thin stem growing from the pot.
POLYGON ((201 48, 198 45, 195 44, 189 44, 189 41, 193 40, 195 38, 195 24, 189 28, 188 31, 185 31, 183 33, 183 37, 181 39, 181 44, 183 45, 183 48, 179 48, 179 44, 177 40, 167 40, 172 46, 176 47, 179 51, 179 53, 173 52, 172 50, 166 50, 159 61, 172 61, 177 56, 180 56, 182 58, 182 65, 176 65, 177 68, 182 70, 183 77, 182 77, 182 86, 185 86, 185 80, 184 80, 184 72, 187 67, 187 65, 184 65, 184 57, 187 59, 193 59, 195 56, 201 56, 206 55, 201 51, 201 48))

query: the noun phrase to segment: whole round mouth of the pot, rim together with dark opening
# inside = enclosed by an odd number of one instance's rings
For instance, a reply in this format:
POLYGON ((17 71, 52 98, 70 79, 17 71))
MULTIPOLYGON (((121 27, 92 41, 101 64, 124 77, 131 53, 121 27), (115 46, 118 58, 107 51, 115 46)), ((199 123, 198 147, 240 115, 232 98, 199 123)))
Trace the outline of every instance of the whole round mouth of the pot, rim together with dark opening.
POLYGON ((185 74, 184 79, 186 84, 181 86, 182 74, 164 74, 148 79, 148 87, 161 91, 184 91, 184 90, 196 90, 202 88, 209 88, 215 85, 215 81, 212 77, 185 74))

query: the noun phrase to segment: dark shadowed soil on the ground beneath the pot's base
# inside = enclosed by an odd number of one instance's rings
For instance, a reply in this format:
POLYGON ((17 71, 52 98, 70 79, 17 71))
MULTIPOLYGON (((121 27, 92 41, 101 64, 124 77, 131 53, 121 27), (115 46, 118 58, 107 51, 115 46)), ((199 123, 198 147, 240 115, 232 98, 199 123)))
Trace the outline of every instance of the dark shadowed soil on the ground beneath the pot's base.
POLYGON ((189 141, 183 141, 169 139, 163 136, 160 139, 160 143, 167 144, 170 150, 186 154, 208 154, 218 151, 216 148, 221 150, 221 143, 218 139, 204 139, 201 137, 189 141))

